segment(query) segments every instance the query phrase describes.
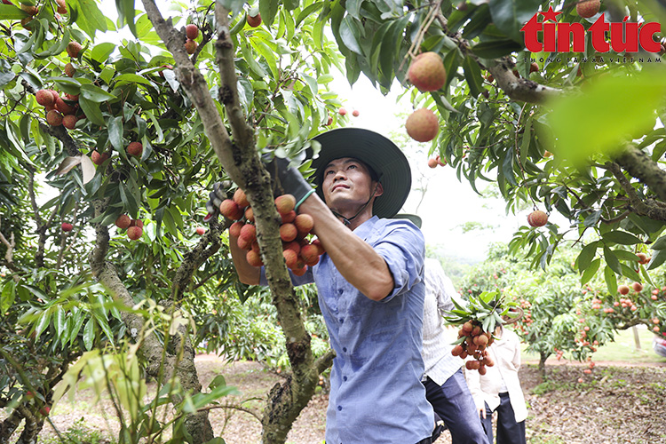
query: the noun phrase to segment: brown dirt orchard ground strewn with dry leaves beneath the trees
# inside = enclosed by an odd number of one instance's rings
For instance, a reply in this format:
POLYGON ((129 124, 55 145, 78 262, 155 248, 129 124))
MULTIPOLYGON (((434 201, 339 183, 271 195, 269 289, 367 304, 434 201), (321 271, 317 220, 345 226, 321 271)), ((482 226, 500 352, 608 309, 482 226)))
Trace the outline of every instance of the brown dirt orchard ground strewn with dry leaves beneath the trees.
MULTIPOLYGON (((259 409, 266 393, 281 379, 256 362, 226 363, 215 356, 202 355, 196 360, 203 385, 224 375, 227 385, 234 385, 240 395, 229 398, 242 408, 259 409)), ((547 365, 548 382, 541 383, 535 364, 520 369, 520 380, 529 408, 527 442, 531 444, 614 444, 666 443, 666 364, 630 366, 598 362, 591 374, 586 366, 575 363, 547 365), (583 383, 579 383, 583 378, 583 383)), ((297 418, 289 444, 321 444, 324 439, 325 393, 316 394, 297 418)), ((106 408, 109 408, 107 406, 106 408)), ((95 406, 90 394, 78 393, 75 404, 63 400, 52 410, 52 421, 60 431, 80 418, 99 430, 114 430, 112 410, 95 406)), ((261 426, 255 416, 242 409, 214 409, 210 412, 216 436, 226 444, 260 442, 261 426)), ((52 428, 44 427, 42 437, 52 437, 52 428)), ((104 442, 112 442, 105 440, 104 442)), ((450 443, 448 432, 437 444, 450 443)), ((91 443, 92 444, 92 443, 91 443)))

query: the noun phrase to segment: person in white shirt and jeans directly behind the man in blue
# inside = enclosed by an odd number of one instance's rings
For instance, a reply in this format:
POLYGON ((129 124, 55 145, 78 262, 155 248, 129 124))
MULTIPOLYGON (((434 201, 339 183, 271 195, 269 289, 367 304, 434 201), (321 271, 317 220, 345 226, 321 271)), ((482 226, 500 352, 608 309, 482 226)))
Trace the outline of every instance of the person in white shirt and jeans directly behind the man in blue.
POLYGON ((456 302, 460 300, 462 305, 464 302, 459 299, 438 260, 425 258, 424 281, 424 348, 421 355, 425 365, 422 379, 425 396, 451 432, 453 444, 488 444, 472 393, 464 379, 464 361, 451 354, 456 331, 448 329, 442 318, 446 311, 454 308, 451 298, 456 297, 456 302))

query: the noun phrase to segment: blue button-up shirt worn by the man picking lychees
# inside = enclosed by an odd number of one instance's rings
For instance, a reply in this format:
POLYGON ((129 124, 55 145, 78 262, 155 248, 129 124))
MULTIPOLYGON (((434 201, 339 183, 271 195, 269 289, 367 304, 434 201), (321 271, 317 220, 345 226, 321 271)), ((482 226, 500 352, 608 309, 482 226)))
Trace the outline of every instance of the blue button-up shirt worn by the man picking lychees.
MULTIPOLYGON (((314 281, 337 356, 330 374, 327 444, 412 444, 430 436, 432 406, 421 377, 424 238, 405 219, 370 218, 354 232, 385 259, 392 292, 365 297, 328 255, 294 284, 314 281)), ((266 283, 265 275, 262 280, 266 283)))

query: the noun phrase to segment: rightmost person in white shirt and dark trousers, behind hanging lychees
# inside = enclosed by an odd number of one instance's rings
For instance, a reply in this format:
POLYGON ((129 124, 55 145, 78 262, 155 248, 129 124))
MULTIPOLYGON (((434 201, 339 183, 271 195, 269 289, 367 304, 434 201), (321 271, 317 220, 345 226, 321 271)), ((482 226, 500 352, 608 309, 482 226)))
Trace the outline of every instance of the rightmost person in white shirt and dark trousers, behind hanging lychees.
POLYGON ((496 327, 495 337, 487 349, 495 365, 487 367, 485 375, 467 370, 465 377, 488 442, 493 442, 492 417, 497 412, 497 444, 525 444, 527 406, 518 378, 520 339, 501 325, 496 327))

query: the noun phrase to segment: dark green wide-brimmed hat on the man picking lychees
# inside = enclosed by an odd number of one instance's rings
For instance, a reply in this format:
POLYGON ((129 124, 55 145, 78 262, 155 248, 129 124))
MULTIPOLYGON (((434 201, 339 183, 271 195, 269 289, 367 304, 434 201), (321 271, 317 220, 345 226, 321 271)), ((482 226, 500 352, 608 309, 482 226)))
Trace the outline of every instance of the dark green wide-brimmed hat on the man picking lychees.
POLYGON ((337 128, 313 139, 321 144, 319 156, 312 163, 321 200, 324 199, 321 182, 326 166, 341 157, 353 157, 374 170, 384 187, 384 194, 375 199, 372 213, 379 218, 392 218, 402 208, 411 189, 412 174, 407 157, 390 139, 361 128, 337 128))

